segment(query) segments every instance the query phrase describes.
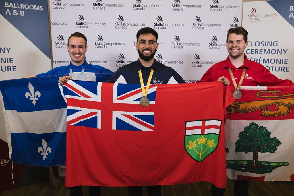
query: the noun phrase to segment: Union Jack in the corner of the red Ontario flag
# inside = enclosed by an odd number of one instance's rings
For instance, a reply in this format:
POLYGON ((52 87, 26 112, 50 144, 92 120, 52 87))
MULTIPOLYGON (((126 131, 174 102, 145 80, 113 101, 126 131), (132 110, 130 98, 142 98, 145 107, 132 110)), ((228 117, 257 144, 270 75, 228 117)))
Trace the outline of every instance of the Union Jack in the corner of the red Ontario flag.
POLYGON ((149 87, 147 97, 150 105, 146 108, 140 105, 142 90, 137 84, 69 81, 60 88, 67 102, 67 125, 112 130, 154 130, 155 85, 149 87))

